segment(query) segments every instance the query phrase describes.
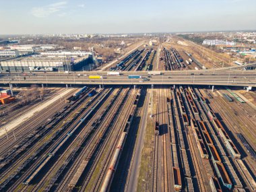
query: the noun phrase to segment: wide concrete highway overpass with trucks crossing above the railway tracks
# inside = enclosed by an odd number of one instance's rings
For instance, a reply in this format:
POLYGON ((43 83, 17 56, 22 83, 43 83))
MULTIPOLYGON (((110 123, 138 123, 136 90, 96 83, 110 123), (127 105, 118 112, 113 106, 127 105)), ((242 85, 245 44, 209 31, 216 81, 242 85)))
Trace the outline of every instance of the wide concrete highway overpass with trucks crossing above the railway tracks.
POLYGON ((75 73, 1 73, 0 84, 72 84, 72 85, 214 85, 256 86, 256 71, 162 71, 162 75, 148 75, 147 71, 121 71, 121 75, 107 75, 107 71, 76 71, 75 73), (102 79, 89 79, 102 75, 102 79), (129 79, 128 75, 148 78, 129 79), (150 76, 150 77, 148 77, 150 76))

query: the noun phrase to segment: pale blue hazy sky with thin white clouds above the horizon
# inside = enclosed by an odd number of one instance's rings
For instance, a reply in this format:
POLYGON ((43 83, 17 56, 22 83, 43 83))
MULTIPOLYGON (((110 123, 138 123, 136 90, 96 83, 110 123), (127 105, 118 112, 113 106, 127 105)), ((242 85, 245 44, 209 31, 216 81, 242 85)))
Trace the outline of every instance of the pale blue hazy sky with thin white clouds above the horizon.
POLYGON ((0 0, 0 34, 256 30, 255 0, 0 0))

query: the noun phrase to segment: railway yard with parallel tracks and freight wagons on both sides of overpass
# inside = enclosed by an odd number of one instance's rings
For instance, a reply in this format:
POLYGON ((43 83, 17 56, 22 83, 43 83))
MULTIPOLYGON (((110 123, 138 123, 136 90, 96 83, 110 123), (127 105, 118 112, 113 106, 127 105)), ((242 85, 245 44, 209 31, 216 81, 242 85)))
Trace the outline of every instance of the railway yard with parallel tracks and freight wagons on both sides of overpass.
MULTIPOLYGON (((168 46, 139 46, 104 68, 148 71, 129 75, 141 82, 189 69, 205 66, 168 46)), ((238 90, 51 89, 0 120, 0 191, 256 191, 256 110, 238 90)))

